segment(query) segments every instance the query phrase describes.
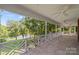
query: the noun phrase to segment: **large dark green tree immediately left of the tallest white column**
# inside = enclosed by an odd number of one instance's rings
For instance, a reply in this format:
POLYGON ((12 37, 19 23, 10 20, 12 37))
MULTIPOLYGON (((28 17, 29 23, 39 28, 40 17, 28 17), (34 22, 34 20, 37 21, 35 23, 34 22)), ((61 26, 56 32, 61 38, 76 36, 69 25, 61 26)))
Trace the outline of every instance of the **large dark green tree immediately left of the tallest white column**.
POLYGON ((28 33, 31 35, 44 34, 45 32, 45 23, 34 18, 25 18, 24 20, 25 27, 28 29, 28 33))

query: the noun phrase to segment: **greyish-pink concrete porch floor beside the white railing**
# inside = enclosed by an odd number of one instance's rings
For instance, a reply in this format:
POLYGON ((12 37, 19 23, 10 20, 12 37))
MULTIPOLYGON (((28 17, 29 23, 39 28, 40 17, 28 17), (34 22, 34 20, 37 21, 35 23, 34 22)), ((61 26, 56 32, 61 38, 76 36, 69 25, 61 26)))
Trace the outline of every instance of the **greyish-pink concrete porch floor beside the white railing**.
POLYGON ((21 55, 78 55, 79 42, 76 35, 63 35, 40 43, 39 47, 21 55))

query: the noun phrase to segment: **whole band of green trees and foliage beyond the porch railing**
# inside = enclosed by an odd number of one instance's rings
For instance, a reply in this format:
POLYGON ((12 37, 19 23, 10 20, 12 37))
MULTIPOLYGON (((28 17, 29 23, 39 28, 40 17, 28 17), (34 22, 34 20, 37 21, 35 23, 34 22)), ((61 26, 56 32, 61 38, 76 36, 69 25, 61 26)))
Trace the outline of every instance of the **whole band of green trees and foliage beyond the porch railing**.
MULTIPOLYGON (((0 38, 15 37, 17 39, 17 36, 22 35, 24 39, 27 34, 34 35, 34 37, 45 34, 45 21, 30 17, 25 17, 20 21, 10 20, 7 22, 7 26, 1 25, 0 27, 0 38)), ((47 22, 47 33, 56 32, 56 30, 59 32, 60 29, 63 31, 60 26, 47 22)), ((64 27, 64 31, 69 31, 69 28, 64 27)))

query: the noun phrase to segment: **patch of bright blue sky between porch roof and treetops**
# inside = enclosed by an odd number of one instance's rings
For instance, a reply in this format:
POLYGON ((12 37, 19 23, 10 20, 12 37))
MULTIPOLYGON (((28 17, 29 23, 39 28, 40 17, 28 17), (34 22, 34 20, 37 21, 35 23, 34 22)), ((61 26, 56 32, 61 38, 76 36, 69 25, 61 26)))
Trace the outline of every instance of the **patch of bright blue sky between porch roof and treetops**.
POLYGON ((8 20, 21 20, 24 16, 19 15, 16 13, 8 12, 8 11, 2 11, 0 12, 1 15, 1 24, 6 25, 8 20))

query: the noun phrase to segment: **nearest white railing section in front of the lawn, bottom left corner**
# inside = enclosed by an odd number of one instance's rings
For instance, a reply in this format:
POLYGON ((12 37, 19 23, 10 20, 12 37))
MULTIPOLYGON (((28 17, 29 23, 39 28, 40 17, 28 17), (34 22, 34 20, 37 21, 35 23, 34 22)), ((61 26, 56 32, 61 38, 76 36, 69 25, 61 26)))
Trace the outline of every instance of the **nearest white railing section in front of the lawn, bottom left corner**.
MULTIPOLYGON (((16 42, 16 41, 13 41, 13 42, 16 42)), ((0 47, 0 54, 1 55, 13 55, 13 54, 17 53, 16 50, 19 50, 23 47, 24 40, 22 40, 22 42, 19 42, 17 45, 18 47, 16 46, 15 48, 11 48, 11 47, 15 46, 15 44, 11 45, 11 46, 6 46, 6 44, 8 44, 8 42, 0 43, 0 46, 1 46, 0 47)))

